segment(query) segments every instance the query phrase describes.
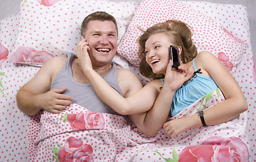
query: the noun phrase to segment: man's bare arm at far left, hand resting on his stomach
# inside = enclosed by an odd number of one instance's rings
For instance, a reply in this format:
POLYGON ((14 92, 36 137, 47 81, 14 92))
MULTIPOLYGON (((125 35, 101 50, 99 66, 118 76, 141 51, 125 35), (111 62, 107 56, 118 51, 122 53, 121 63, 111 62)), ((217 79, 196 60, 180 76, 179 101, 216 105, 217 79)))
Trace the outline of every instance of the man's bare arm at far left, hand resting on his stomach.
POLYGON ((51 81, 56 77, 65 61, 65 57, 50 59, 30 81, 18 90, 17 106, 23 113, 35 115, 41 109, 51 113, 60 113, 72 103, 72 97, 62 94, 66 88, 50 90, 51 81))

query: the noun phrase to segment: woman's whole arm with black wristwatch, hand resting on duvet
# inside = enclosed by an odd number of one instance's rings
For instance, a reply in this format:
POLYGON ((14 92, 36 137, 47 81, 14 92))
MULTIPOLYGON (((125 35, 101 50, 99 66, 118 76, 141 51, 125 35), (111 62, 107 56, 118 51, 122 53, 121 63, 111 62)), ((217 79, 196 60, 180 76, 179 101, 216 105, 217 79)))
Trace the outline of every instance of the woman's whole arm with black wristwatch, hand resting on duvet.
MULTIPOLYGON (((212 53, 203 51, 198 54, 194 62, 198 68, 213 78, 226 98, 225 101, 204 111, 207 126, 221 124, 247 111, 247 101, 240 86, 217 57, 212 53)), ((198 114, 194 114, 190 117, 169 121, 164 125, 164 128, 173 138, 177 134, 199 126, 202 126, 200 118, 198 114)))

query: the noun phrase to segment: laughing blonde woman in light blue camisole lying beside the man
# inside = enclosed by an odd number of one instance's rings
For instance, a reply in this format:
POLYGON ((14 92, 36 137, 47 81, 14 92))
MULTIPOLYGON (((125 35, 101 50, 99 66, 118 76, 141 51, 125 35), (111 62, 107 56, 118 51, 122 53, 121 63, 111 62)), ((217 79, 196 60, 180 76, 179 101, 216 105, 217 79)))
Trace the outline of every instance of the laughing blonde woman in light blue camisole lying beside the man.
MULTIPOLYGON (((77 55, 100 99, 115 111, 137 113, 142 111, 146 99, 156 99, 149 111, 131 117, 145 134, 154 136, 164 127, 174 138, 190 128, 220 124, 247 110, 242 90, 226 67, 208 51, 197 54, 187 24, 177 20, 155 24, 140 36, 139 43, 140 72, 152 81, 128 98, 115 93, 93 72, 86 50, 77 55), (179 51, 181 65, 178 70, 171 68, 170 45, 179 51), (168 115, 174 116, 216 88, 221 90, 226 100, 203 112, 205 123, 198 114, 166 122, 168 115)), ((83 49, 85 45, 86 41, 81 41, 78 48, 83 49)))

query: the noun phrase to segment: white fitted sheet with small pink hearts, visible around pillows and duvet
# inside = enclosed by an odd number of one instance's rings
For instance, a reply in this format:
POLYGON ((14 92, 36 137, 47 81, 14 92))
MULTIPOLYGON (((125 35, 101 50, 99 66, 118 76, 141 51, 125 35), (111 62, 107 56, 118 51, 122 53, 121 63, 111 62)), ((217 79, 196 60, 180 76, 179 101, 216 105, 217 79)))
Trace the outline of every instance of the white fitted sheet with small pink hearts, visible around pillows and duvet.
MULTIPOLYGON (((256 76, 247 9, 242 5, 222 5, 193 1, 184 1, 184 3, 194 9, 200 10, 207 16, 211 16, 211 18, 217 22, 221 22, 229 32, 247 41, 249 45, 247 53, 242 57, 242 61, 236 68, 236 72, 234 72, 233 76, 241 86, 249 105, 249 110, 247 113, 244 113, 244 116, 248 119, 251 161, 256 161, 256 121, 253 118, 256 112, 256 76)), ((18 15, 9 16, 0 22, 0 43, 1 46, 5 47, 7 53, 12 53, 12 49, 14 48, 18 34, 18 22, 18 15)), ((16 92, 24 83, 30 80, 38 70, 39 68, 34 66, 16 65, 9 63, 9 61, 1 63, 0 161, 28 161, 27 134, 29 117, 21 113, 16 107, 16 92)), ((142 82, 146 83, 144 78, 138 74, 138 70, 134 65, 130 64, 130 70, 137 74, 137 76, 142 79, 142 82)))

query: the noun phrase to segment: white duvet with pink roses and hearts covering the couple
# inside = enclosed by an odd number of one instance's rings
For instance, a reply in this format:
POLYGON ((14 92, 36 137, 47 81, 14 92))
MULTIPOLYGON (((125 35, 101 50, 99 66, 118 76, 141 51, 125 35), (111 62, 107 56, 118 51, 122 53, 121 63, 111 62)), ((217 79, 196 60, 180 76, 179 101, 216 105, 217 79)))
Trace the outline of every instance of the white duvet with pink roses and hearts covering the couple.
MULTIPOLYGON (((219 89, 171 119, 224 100, 219 89)), ((171 138, 161 130, 146 136, 129 119, 93 113, 72 104, 62 113, 44 111, 29 121, 30 161, 249 161, 244 114, 216 126, 190 129, 171 138)))

